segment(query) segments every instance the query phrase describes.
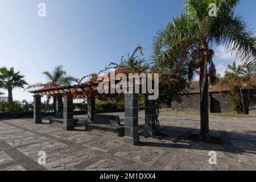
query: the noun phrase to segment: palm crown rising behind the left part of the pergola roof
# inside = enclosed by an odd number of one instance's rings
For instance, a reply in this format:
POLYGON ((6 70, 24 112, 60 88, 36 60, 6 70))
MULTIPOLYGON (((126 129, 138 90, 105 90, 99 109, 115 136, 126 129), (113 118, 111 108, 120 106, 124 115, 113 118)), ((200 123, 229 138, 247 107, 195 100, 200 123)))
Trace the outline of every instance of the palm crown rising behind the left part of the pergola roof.
POLYGON ((52 86, 67 86, 71 85, 72 81, 76 81, 76 78, 68 76, 67 72, 63 70, 62 65, 57 65, 52 72, 44 71, 43 75, 46 76, 46 83, 36 83, 34 85, 29 85, 26 90, 31 88, 45 88, 52 86))

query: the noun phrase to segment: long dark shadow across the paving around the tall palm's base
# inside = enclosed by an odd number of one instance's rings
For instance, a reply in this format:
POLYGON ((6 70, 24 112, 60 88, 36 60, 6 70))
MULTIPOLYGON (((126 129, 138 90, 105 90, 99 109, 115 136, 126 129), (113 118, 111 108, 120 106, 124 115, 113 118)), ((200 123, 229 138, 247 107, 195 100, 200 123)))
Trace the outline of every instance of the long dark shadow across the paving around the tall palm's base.
POLYGON ((169 137, 151 137, 146 132, 144 125, 139 125, 139 135, 145 140, 150 138, 151 141, 141 141, 139 146, 164 147, 164 148, 184 148, 195 150, 222 151, 233 154, 250 153, 256 154, 256 131, 244 131, 238 133, 234 131, 210 131, 212 137, 221 138, 223 146, 220 144, 210 144, 188 140, 192 134, 200 134, 199 129, 191 129, 188 127, 163 126, 162 131, 169 137), (250 133, 250 134, 248 134, 250 133), (152 142, 152 140, 155 140, 152 142))

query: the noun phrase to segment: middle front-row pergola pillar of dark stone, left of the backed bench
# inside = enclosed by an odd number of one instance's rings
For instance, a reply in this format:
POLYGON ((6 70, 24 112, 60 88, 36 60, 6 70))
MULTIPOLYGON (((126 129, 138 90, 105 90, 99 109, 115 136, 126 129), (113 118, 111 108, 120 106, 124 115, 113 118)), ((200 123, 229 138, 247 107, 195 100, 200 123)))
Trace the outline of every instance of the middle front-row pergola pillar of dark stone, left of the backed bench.
POLYGON ((63 129, 73 130, 73 97, 71 93, 64 93, 63 102, 63 129))

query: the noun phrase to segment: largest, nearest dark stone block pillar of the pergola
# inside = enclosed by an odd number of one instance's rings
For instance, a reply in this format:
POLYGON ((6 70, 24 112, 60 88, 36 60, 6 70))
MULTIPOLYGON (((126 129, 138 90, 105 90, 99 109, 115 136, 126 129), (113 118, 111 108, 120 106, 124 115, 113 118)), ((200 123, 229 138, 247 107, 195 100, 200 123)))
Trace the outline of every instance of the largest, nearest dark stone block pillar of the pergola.
POLYGON ((139 143, 138 134, 138 94, 125 94, 125 137, 123 142, 131 145, 139 143))

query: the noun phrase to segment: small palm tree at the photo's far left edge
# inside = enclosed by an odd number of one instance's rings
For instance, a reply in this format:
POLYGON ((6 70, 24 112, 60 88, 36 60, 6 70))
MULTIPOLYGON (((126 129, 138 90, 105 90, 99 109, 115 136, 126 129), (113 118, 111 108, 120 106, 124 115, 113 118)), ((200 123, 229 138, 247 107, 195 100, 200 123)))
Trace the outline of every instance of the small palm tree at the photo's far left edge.
POLYGON ((24 88, 27 82, 23 79, 24 76, 20 72, 14 72, 14 68, 0 68, 0 88, 8 90, 8 101, 13 102, 13 89, 24 88))

